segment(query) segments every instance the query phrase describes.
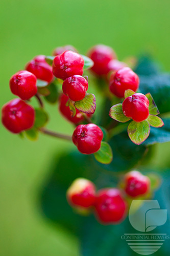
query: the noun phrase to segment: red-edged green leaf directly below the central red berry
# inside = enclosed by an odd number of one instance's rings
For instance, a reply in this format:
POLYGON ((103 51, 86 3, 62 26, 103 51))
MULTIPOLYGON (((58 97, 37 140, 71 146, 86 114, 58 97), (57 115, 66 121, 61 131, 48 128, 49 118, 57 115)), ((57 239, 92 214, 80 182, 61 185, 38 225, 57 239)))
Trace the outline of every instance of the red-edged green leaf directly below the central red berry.
POLYGON ((86 94, 84 99, 75 102, 75 107, 85 114, 94 114, 96 108, 94 94, 86 94))

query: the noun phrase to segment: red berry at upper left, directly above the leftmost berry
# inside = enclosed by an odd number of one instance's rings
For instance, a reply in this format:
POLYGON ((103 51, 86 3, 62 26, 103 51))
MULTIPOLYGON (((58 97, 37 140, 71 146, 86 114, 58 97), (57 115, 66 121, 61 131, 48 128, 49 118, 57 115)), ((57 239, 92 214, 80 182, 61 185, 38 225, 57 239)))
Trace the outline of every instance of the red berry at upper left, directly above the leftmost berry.
POLYGON ((37 93, 37 78, 28 71, 19 71, 10 79, 11 92, 21 99, 30 99, 37 93))

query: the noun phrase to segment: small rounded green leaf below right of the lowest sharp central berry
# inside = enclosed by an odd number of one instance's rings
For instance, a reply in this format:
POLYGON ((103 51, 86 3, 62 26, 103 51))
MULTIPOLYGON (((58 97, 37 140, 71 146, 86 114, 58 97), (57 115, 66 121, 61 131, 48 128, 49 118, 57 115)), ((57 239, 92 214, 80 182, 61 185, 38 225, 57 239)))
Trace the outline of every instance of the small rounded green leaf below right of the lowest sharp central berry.
POLYGON ((111 163, 113 159, 113 154, 110 145, 107 142, 102 141, 101 148, 98 152, 94 153, 94 157, 100 163, 111 163))

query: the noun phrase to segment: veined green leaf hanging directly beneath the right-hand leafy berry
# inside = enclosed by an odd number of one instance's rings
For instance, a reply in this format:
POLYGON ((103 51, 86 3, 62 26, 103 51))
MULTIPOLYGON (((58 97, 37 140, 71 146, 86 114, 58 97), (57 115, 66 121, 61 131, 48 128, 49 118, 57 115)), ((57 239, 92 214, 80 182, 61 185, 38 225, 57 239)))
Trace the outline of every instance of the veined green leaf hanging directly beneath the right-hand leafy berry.
POLYGON ((137 145, 140 145, 144 140, 148 138, 150 134, 150 125, 144 120, 140 123, 132 121, 128 126, 128 135, 131 141, 137 145))

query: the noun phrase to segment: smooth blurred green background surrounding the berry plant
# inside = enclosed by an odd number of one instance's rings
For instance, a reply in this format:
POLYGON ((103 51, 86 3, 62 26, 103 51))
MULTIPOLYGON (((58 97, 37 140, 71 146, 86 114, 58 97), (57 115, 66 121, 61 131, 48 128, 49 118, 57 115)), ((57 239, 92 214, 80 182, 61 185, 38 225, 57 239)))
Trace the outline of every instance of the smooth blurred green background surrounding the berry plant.
MULTIPOLYGON (((1 106, 13 98, 11 75, 35 55, 50 55, 66 44, 83 54, 92 45, 106 44, 120 60, 149 51, 169 71, 169 8, 169 0, 1 0, 1 106)), ((56 106, 47 110, 53 117, 49 127, 72 133, 56 106)), ((38 204, 54 152, 74 146, 45 136, 21 140, 0 129, 1 255, 79 255, 77 238, 48 223, 38 204)), ((152 164, 158 168, 167 165, 168 146, 157 146, 152 164)))

